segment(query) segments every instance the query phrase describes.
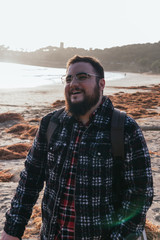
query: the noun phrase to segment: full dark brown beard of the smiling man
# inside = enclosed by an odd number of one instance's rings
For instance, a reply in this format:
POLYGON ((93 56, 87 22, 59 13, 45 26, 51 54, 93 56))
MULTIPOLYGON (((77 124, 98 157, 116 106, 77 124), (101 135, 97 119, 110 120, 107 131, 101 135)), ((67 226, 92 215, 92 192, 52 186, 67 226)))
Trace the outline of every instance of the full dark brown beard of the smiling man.
POLYGON ((85 115, 92 107, 98 103, 100 98, 100 87, 98 84, 96 84, 92 95, 87 95, 84 90, 83 93, 84 99, 77 103, 72 103, 70 100, 70 94, 65 94, 66 111, 69 111, 75 117, 85 115))

